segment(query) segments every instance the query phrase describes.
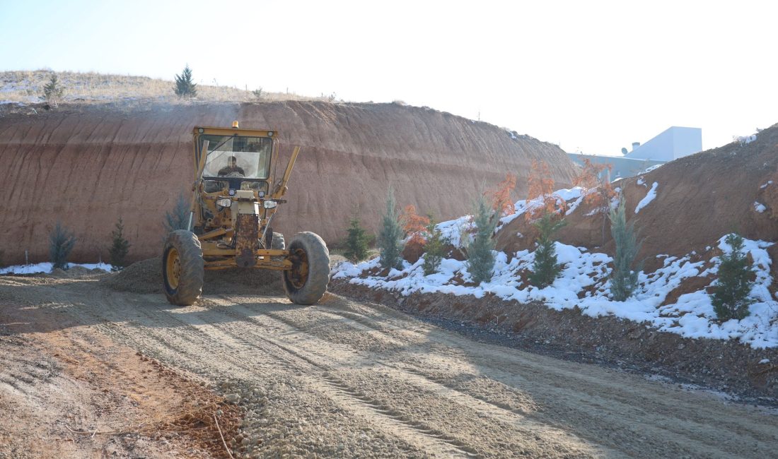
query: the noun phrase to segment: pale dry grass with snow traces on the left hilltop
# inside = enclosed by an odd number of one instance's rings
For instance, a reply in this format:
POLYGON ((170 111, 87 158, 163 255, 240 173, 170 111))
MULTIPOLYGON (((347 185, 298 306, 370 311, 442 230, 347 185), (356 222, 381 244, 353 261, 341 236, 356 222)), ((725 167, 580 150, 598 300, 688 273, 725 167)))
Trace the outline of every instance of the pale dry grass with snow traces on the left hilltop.
MULTIPOLYGON (((119 100, 144 99, 167 103, 185 103, 173 93, 173 81, 130 75, 103 75, 72 71, 3 71, 0 72, 0 102, 35 103, 44 93, 44 85, 56 73, 65 93, 62 102, 101 103, 119 100)), ((261 99, 254 92, 232 86, 197 86, 196 100, 213 102, 276 101, 276 100, 326 100, 332 96, 309 97, 285 92, 262 92, 261 99)))

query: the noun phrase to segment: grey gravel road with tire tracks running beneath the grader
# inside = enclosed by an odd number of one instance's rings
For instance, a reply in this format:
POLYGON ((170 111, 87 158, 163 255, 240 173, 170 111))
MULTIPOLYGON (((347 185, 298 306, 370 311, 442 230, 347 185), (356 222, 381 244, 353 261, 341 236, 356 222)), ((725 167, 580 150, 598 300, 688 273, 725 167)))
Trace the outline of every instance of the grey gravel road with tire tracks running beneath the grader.
POLYGON ((244 411, 230 440, 237 456, 769 457, 778 450, 778 416, 769 410, 476 343, 377 304, 328 294, 300 307, 225 294, 174 308, 161 295, 117 293, 97 280, 0 278, 6 334, 23 315, 54 316, 39 320, 37 333, 86 328, 191 374, 244 411))

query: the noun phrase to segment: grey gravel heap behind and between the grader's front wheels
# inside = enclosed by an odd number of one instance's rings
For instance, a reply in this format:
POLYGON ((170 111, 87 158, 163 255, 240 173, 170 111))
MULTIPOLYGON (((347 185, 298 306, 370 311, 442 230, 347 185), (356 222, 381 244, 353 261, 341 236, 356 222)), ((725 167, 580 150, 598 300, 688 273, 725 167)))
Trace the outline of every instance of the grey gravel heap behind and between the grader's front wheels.
MULTIPOLYGON (((103 283, 117 291, 135 294, 163 294, 162 260, 145 259, 132 263, 103 283)), ((281 273, 268 269, 223 269, 205 271, 203 294, 283 294, 281 273)))

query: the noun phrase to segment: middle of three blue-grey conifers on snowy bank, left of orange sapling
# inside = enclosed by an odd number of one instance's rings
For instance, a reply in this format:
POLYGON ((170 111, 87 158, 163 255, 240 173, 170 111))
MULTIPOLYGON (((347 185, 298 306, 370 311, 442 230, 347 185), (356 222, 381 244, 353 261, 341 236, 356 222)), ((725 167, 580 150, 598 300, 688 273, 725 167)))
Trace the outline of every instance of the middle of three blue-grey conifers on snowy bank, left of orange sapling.
POLYGON ((486 203, 484 196, 479 196, 475 203, 475 235, 468 246, 468 271, 473 282, 482 283, 492 280, 494 269, 494 229, 499 221, 499 213, 493 211, 486 203))

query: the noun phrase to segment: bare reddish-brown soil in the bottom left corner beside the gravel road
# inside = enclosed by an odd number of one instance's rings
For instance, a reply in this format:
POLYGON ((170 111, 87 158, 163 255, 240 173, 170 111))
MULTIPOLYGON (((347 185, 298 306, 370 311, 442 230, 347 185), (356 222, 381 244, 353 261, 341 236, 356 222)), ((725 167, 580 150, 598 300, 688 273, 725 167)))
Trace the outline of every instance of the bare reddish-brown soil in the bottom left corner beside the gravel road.
POLYGON ((29 304, 2 304, 0 354, 0 457, 229 457, 221 436, 243 418, 196 377, 29 304))

